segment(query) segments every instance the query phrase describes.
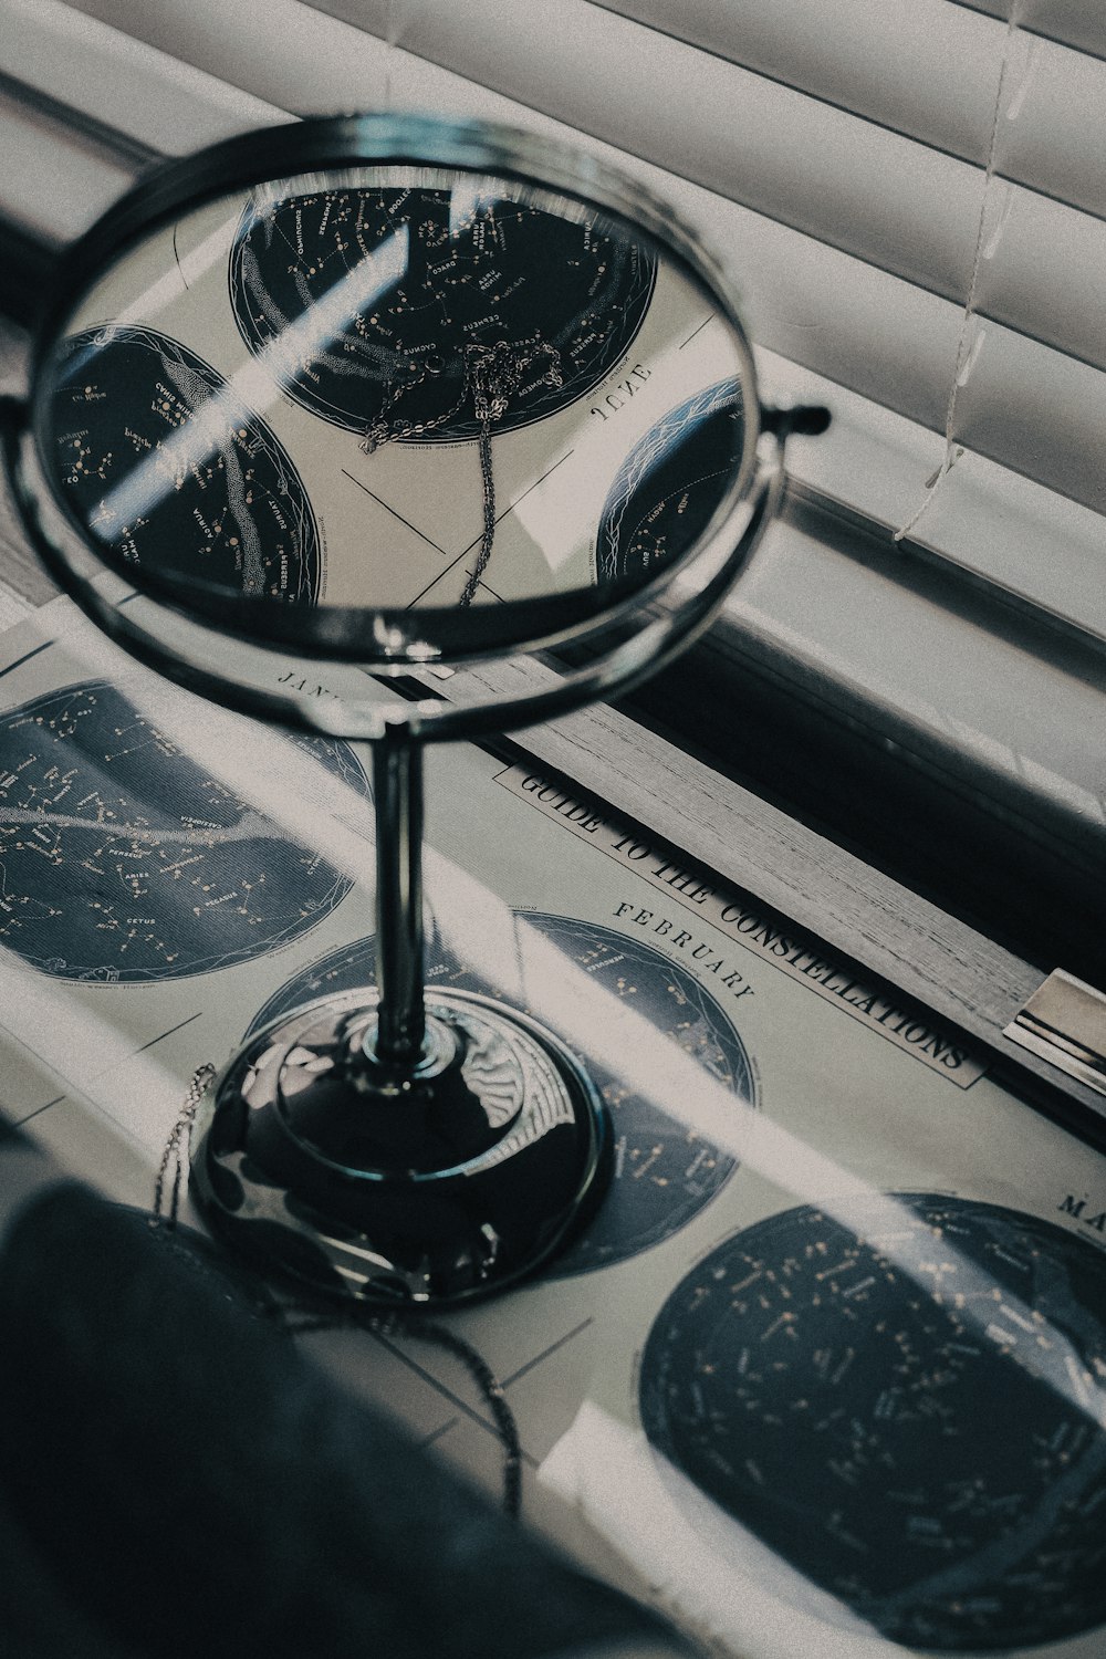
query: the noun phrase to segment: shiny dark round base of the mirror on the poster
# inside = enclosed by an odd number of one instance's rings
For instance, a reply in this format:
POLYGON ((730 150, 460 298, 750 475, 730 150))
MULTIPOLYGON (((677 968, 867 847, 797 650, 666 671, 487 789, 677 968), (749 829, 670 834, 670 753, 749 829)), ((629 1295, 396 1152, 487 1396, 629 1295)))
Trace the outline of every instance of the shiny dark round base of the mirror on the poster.
POLYGON ((315 1294, 393 1309, 491 1296, 577 1236, 612 1163, 587 1072, 491 997, 426 1004, 410 1075, 373 1058, 371 989, 247 1042, 194 1128, 192 1194, 216 1234, 315 1294))

